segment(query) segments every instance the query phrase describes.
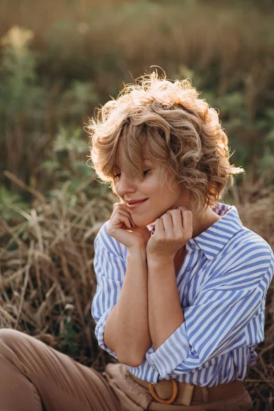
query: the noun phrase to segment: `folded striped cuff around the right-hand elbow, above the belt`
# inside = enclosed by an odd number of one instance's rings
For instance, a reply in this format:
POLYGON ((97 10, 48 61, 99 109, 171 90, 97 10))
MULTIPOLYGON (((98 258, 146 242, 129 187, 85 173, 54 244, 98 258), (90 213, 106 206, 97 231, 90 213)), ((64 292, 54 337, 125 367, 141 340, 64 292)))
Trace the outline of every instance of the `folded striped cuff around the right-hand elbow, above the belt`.
POLYGON ((146 359, 162 378, 172 373, 188 357, 190 344, 186 322, 182 323, 154 353, 146 353, 146 359))

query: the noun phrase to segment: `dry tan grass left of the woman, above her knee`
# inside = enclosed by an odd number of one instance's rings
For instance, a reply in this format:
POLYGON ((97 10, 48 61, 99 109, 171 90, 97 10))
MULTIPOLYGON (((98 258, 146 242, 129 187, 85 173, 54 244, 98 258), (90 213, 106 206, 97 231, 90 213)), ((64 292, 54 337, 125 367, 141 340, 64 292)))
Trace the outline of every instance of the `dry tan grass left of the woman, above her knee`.
POLYGON ((68 188, 48 200, 37 193, 32 210, 17 210, 22 222, 1 221, 0 327, 38 336, 90 364, 97 351, 93 240, 114 196, 67 196, 68 188))

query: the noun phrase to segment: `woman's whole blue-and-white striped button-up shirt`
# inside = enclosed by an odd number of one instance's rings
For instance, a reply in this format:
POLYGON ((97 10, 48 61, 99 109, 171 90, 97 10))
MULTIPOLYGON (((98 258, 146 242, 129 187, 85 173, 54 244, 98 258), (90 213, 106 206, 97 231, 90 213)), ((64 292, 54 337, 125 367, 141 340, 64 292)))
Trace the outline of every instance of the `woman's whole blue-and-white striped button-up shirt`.
MULTIPOLYGON (((129 371, 158 382, 176 378, 199 386, 244 379, 256 363, 256 345, 264 340, 266 292, 274 272, 273 251, 258 234, 242 226, 234 206, 216 203, 222 218, 186 244, 177 274, 184 323, 156 351, 153 345, 129 371)), ((106 232, 95 238, 97 290, 92 316, 99 346, 105 346, 105 322, 119 299, 127 269, 127 248, 106 232)), ((148 226, 153 232, 153 223, 148 226)))

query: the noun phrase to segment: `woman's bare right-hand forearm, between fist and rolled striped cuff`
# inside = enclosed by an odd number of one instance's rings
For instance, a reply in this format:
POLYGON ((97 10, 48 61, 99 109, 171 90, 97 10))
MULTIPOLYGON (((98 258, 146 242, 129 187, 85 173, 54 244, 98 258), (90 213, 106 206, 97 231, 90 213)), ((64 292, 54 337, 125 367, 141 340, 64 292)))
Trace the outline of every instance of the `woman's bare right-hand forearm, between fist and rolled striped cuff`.
POLYGON ((147 259, 149 332, 154 351, 184 322, 173 259, 147 259))

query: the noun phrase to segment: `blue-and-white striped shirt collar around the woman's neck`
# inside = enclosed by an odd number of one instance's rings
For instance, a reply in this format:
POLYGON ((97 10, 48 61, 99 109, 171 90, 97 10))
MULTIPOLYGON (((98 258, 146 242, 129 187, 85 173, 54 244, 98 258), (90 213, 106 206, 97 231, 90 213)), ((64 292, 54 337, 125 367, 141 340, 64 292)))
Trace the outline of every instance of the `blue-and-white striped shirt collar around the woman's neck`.
MULTIPOLYGON (((214 206, 212 210, 221 216, 221 219, 208 227, 208 229, 199 234, 199 236, 191 238, 191 240, 186 243, 186 251, 188 253, 201 249, 208 260, 215 258, 230 238, 242 229, 242 223, 235 206, 216 203, 216 206, 214 206)), ((151 234, 153 234, 155 224, 149 224, 148 228, 151 234)))

